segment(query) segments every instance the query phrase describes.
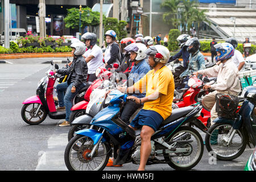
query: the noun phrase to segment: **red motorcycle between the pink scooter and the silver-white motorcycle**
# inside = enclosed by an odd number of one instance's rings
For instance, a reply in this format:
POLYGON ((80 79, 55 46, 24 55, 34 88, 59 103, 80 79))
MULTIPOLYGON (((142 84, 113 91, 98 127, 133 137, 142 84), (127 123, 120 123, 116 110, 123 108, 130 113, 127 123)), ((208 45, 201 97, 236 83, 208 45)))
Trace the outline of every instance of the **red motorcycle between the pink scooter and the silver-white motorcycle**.
POLYGON ((69 117, 69 122, 74 121, 75 118, 79 117, 80 115, 86 114, 86 107, 90 101, 90 94, 92 93, 93 89, 98 88, 102 85, 105 80, 109 80, 109 78, 113 75, 112 72, 106 70, 106 68, 98 68, 96 70, 96 76, 100 77, 92 82, 89 88, 86 90, 84 94, 84 100, 78 102, 77 104, 73 105, 71 108, 71 114, 69 117))

